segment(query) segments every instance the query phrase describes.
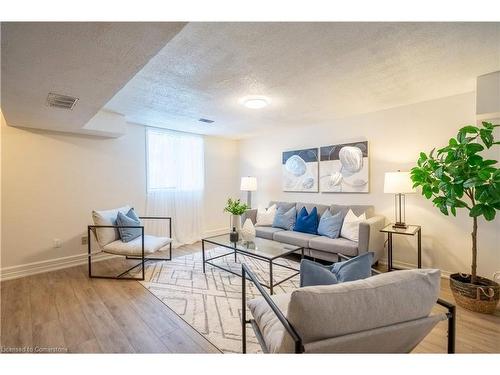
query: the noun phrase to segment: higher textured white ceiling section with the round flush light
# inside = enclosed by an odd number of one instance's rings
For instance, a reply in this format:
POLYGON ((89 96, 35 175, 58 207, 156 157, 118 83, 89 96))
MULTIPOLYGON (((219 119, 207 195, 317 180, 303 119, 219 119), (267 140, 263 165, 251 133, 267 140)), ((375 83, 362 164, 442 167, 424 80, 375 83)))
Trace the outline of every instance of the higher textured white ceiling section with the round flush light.
POLYGON ((106 109, 241 138, 470 92, 495 70, 500 23, 190 23, 106 109))

